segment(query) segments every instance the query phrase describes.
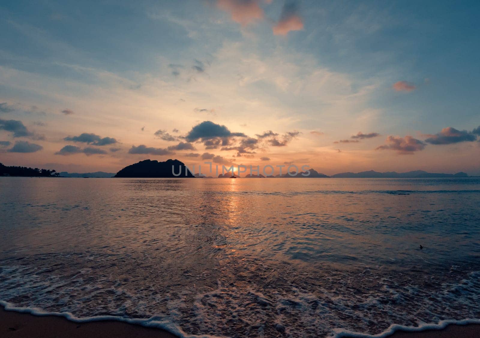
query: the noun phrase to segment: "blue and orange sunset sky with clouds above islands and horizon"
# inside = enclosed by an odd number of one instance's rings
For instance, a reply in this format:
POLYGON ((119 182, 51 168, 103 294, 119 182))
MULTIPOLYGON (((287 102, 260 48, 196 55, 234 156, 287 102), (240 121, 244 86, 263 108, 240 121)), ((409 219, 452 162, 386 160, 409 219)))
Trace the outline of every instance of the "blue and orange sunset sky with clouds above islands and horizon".
POLYGON ((442 0, 2 1, 0 162, 480 175, 479 14, 442 0))

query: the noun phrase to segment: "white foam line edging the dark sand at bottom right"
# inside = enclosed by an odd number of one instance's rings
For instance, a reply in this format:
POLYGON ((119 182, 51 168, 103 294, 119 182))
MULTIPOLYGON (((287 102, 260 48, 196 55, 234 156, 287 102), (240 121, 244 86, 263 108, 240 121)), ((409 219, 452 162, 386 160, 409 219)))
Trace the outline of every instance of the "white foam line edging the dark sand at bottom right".
POLYGON ((446 326, 455 324, 455 325, 468 325, 468 324, 480 324, 480 319, 462 319, 462 320, 441 320, 438 324, 421 324, 420 326, 403 326, 398 324, 393 324, 388 327, 384 332, 369 335, 366 333, 358 333, 348 330, 335 329, 336 334, 333 338, 342 338, 342 337, 352 337, 352 338, 385 338, 390 335, 393 335, 396 331, 407 331, 407 332, 419 332, 425 330, 441 330, 446 326))

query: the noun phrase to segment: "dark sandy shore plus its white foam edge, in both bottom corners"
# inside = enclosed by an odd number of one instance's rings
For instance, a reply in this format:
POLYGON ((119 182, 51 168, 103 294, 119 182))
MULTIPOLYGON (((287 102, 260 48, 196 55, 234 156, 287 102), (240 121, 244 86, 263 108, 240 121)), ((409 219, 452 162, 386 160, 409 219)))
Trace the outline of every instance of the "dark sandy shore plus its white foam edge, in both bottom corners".
MULTIPOLYGON (((8 305, 0 303, 0 336, 16 338, 178 338, 171 332, 152 325, 142 325, 144 320, 115 320, 111 316, 95 319, 71 320, 67 314, 34 313, 34 309, 17 308, 6 310, 8 305), (110 317, 110 318, 108 318, 110 317)), ((425 325, 421 329, 393 326, 378 335, 354 332, 339 332, 335 338, 477 338, 480 337, 479 323, 471 321, 441 322, 438 325, 425 325), (466 324, 463 324, 465 322, 466 324), (460 323, 460 324, 458 324, 460 323), (392 332, 394 331, 394 332, 392 332)))

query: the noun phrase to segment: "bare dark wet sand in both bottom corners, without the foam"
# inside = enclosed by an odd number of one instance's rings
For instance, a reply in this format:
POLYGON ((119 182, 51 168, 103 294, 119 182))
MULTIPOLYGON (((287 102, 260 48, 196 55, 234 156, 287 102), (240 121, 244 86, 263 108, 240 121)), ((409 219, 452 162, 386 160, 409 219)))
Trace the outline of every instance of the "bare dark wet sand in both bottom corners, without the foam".
MULTIPOLYGON (((36 316, 0 307, 0 337, 17 338, 176 338, 171 333, 116 321, 74 323, 58 316, 36 316)), ((480 325, 450 325, 443 330, 397 331, 389 338, 478 338, 480 325)))

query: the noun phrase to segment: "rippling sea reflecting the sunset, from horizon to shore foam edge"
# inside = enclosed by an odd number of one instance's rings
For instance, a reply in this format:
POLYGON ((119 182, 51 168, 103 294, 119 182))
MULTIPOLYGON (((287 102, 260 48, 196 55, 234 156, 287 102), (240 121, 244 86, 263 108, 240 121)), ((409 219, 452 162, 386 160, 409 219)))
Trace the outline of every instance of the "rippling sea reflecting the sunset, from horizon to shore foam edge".
POLYGON ((479 178, 5 177, 0 244, 1 301, 185 336, 480 318, 479 178))

